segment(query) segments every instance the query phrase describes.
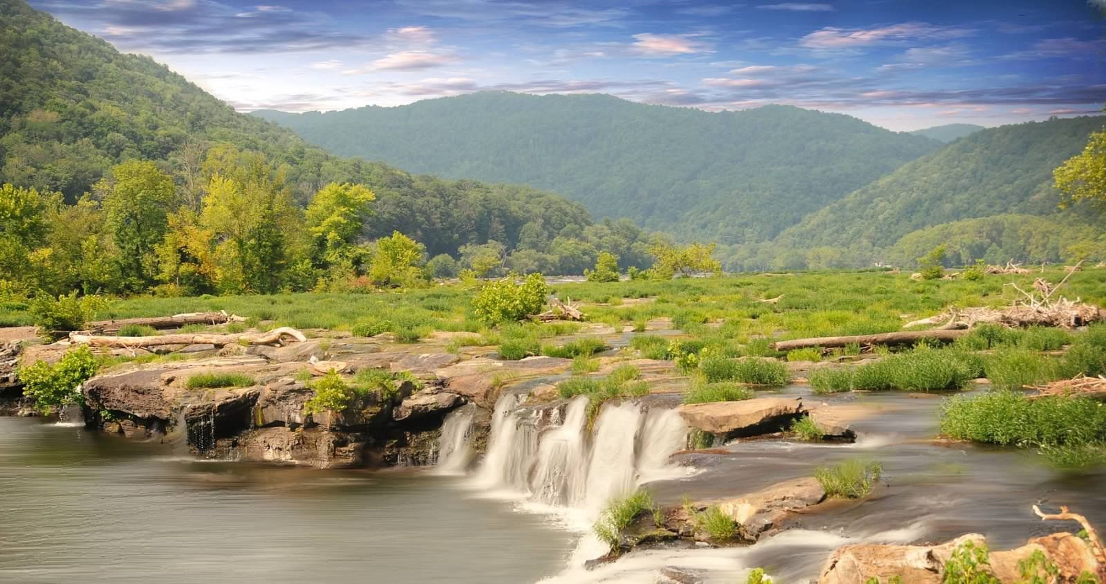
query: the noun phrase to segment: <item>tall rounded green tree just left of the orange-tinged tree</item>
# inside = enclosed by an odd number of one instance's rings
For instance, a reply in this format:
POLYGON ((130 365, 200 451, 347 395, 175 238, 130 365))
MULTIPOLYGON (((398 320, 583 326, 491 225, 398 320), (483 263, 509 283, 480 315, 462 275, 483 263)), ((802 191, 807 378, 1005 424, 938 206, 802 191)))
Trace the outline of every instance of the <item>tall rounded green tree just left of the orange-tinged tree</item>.
POLYGON ((107 227, 119 250, 119 272, 125 288, 142 290, 154 280, 154 248, 165 236, 175 202, 173 177, 149 160, 128 160, 112 168, 96 190, 104 192, 107 227))

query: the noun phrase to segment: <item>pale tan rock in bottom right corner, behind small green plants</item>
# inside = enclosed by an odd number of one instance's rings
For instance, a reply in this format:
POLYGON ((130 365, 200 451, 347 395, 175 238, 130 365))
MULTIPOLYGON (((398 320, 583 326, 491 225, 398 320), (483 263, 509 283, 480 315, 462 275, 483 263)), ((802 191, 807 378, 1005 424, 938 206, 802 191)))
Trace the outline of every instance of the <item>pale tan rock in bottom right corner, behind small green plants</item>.
MULTIPOLYGON (((978 533, 961 535, 940 545, 894 545, 864 543, 838 548, 831 554, 818 577, 820 584, 852 584, 878 578, 885 582, 899 576, 902 582, 938 584, 943 581, 945 564, 964 542, 984 543, 978 533)), ((1022 580, 1018 562, 1042 552, 1056 564, 1063 582, 1074 582, 1083 572, 1096 573, 1102 566, 1084 540, 1071 533, 1034 538, 1025 545, 1008 551, 992 551, 990 570, 1000 582, 1022 580)))

